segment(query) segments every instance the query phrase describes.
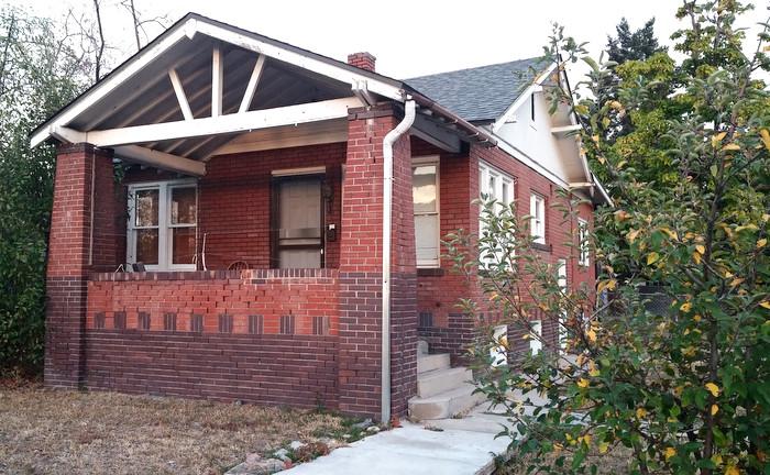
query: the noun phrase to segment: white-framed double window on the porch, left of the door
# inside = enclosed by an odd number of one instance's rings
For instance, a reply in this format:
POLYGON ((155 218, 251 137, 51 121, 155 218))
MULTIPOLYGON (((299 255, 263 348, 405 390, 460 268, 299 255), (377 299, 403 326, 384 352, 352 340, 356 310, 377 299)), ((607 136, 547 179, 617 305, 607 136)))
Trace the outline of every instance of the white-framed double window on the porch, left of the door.
POLYGON ((195 270, 198 188, 195 180, 129 186, 127 261, 147 270, 195 270))

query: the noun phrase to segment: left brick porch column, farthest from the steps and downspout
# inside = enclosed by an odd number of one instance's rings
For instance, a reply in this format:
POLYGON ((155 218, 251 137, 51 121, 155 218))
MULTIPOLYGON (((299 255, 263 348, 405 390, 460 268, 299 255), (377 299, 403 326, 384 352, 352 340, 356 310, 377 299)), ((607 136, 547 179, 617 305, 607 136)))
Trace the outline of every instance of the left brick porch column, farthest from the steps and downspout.
POLYGON ((86 285, 117 265, 112 151, 61 145, 48 239, 45 385, 77 387, 85 365, 86 285), (97 203, 96 208, 91 208, 97 203))

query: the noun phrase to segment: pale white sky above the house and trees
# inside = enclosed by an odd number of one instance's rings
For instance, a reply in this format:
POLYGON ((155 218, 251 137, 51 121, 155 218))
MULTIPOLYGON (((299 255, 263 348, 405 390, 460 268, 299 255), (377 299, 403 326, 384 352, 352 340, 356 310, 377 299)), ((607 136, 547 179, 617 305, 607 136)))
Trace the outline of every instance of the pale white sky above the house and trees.
MULTIPOLYGON (((130 18, 120 0, 100 0, 108 37, 119 48, 113 65, 135 47, 130 18)), ((537 56, 548 42, 552 22, 565 33, 590 42, 595 56, 607 34, 625 16, 631 29, 656 18, 662 44, 681 27, 674 18, 678 0, 134 0, 144 18, 166 15, 166 24, 194 11, 296 46, 344 60, 349 53, 366 51, 377 57, 378 73, 398 79, 504 63, 537 56)), ((38 14, 63 16, 69 9, 90 12, 90 0, 0 0, 31 8, 38 14)), ((768 16, 768 0, 739 25, 752 26, 768 16)), ((756 30, 756 26, 755 26, 756 30)), ((161 32, 151 26, 150 33, 161 32)))

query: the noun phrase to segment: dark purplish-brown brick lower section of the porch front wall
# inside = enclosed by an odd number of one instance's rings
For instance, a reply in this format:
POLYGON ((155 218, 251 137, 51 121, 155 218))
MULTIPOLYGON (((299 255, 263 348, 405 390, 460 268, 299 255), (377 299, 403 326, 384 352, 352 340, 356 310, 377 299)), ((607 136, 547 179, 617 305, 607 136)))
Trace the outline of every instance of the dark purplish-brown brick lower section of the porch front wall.
POLYGON ((337 339, 88 330, 90 389, 338 408, 337 339))

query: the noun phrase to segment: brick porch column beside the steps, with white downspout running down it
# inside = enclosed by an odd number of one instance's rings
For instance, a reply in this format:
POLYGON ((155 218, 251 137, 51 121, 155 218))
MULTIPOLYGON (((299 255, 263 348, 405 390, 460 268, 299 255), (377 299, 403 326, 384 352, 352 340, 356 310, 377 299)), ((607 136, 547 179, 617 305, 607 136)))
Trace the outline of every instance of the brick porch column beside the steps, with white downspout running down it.
MULTIPOLYGON (((402 119, 393 104, 351 110, 340 242, 340 410, 380 417, 383 139, 402 119)), ((408 134, 394 146, 391 386, 404 415, 417 382, 417 272, 408 134)))

